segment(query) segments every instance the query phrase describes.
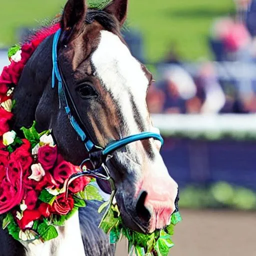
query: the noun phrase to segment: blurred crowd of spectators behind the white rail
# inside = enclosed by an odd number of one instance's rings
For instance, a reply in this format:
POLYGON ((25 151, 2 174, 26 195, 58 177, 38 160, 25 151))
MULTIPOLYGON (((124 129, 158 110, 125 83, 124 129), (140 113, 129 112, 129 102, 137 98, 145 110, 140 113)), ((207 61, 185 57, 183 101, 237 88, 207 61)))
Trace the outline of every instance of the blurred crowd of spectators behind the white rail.
POLYGON ((208 42, 215 61, 238 63, 237 76, 221 79, 212 61, 191 73, 171 45, 164 65, 159 65, 164 68, 157 68, 160 79, 148 91, 152 113, 256 112, 254 72, 248 77, 239 68, 239 63, 256 68, 256 0, 235 0, 235 5, 235 15, 213 21, 208 42))

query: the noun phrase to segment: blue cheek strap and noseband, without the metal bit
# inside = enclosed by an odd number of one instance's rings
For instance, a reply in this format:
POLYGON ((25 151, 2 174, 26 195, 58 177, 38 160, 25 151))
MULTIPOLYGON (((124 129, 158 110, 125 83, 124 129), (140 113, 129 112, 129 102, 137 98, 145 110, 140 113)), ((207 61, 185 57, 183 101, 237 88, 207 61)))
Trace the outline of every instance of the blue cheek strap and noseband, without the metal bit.
MULTIPOLYGON (((76 109, 74 102, 72 101, 72 97, 70 95, 70 92, 68 91, 67 85, 65 83, 64 77, 62 75, 61 69, 59 68, 58 61, 57 61, 57 44, 58 40, 61 34, 61 29, 58 29, 56 33, 54 34, 53 43, 52 43, 52 81, 51 81, 51 87, 54 88, 55 86, 55 78, 58 81, 58 98, 59 98, 59 107, 61 105, 64 106, 64 109, 66 111, 66 114, 68 116, 68 119, 73 126, 76 133, 79 135, 80 139, 84 143, 86 149, 88 152, 93 151, 94 148, 99 149, 100 147, 96 146, 91 139, 89 138, 89 134, 86 134, 85 131, 81 128, 81 126, 78 124, 76 119, 71 113, 70 107, 68 105, 67 95, 69 96, 69 99, 71 100, 71 106, 72 108, 76 109), (64 85, 64 89, 63 89, 64 85), (66 95, 67 94, 67 95, 66 95)), ((77 110, 76 113, 78 114, 77 110)), ((79 117, 80 118, 80 117, 79 117)), ((101 154, 103 156, 108 155, 109 153, 113 152, 114 150, 125 146, 131 142, 137 141, 137 140, 143 140, 148 138, 154 138, 157 139, 163 144, 163 139, 160 134, 154 133, 154 132, 141 132, 138 134, 130 135, 125 138, 121 138, 119 140, 115 140, 110 142, 104 149, 101 148, 101 154)))

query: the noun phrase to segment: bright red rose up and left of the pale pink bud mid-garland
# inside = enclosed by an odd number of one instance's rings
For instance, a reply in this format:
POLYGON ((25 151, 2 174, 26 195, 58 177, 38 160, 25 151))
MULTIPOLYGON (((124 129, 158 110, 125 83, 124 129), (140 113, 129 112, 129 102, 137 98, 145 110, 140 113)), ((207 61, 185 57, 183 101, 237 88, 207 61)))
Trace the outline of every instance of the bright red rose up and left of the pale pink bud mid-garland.
POLYGON ((29 152, 30 143, 27 139, 22 139, 23 144, 16 148, 14 152, 10 154, 10 161, 18 161, 20 162, 23 170, 28 170, 30 165, 32 164, 32 157, 29 152))

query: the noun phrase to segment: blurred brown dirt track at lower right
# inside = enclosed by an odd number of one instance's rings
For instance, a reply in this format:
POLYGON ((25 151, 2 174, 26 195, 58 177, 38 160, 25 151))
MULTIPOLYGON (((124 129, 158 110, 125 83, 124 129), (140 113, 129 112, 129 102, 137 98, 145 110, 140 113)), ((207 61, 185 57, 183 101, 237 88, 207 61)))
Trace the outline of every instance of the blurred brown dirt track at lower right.
MULTIPOLYGON (((256 256, 256 212, 180 210, 171 256, 256 256)), ((116 256, 126 256, 125 243, 116 256)))

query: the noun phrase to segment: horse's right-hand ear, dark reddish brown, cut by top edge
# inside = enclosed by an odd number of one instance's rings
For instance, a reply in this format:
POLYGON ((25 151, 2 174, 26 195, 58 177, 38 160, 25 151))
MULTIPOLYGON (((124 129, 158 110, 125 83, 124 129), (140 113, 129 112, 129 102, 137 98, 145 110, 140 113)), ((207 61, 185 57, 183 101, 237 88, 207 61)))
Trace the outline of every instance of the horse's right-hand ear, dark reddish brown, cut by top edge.
POLYGON ((112 0, 105 8, 104 11, 113 14, 120 25, 124 23, 127 16, 128 0, 112 0))

